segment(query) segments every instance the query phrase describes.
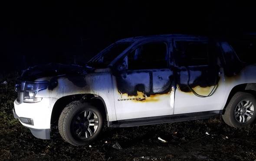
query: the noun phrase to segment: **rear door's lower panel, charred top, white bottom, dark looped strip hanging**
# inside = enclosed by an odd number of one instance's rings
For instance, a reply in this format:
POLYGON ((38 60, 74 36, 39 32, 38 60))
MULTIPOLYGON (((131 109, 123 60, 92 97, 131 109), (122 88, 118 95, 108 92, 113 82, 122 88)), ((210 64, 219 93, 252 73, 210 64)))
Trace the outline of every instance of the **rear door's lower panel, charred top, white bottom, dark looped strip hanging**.
POLYGON ((216 78, 212 77, 215 73, 207 71, 207 68, 191 69, 189 78, 187 70, 181 69, 175 91, 174 114, 220 110, 224 94, 223 68, 216 78))

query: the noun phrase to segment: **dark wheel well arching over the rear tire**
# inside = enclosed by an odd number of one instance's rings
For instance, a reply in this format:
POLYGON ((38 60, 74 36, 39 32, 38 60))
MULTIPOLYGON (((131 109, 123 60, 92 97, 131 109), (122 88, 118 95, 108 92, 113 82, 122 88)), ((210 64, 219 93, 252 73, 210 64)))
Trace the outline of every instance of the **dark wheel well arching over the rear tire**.
POLYGON ((225 113, 226 106, 228 105, 231 98, 233 97, 233 95, 236 92, 247 92, 247 93, 251 93, 254 96, 256 96, 256 83, 239 84, 239 85, 233 87, 233 89, 230 91, 228 99, 226 100, 226 104, 225 104, 224 109, 223 109, 223 114, 225 113))

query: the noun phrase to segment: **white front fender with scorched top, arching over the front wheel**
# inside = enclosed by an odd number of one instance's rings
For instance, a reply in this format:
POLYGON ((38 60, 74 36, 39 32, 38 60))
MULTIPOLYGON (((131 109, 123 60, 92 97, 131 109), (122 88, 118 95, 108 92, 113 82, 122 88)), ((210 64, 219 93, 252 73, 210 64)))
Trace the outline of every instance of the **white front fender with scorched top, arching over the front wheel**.
MULTIPOLYGON (((36 81, 42 81, 43 79, 46 78, 40 78, 40 80, 36 81)), ((56 81, 58 81, 58 85, 55 88, 39 91, 36 97, 51 97, 58 100, 62 97, 77 94, 94 94, 95 97, 100 97, 104 100, 109 121, 116 121, 113 83, 110 70, 74 76, 72 79, 70 77, 58 77, 56 81), (76 83, 71 80, 76 80, 76 83), (77 84, 79 81, 85 85, 80 86, 77 84)))

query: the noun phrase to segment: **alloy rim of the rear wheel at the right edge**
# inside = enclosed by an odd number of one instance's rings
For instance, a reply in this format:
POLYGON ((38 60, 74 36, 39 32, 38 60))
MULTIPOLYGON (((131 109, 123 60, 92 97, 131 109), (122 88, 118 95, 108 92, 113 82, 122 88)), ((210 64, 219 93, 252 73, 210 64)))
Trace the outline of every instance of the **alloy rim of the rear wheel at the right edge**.
POLYGON ((236 105, 235 118, 239 123, 248 122, 254 114, 254 106, 250 100, 242 100, 236 105))

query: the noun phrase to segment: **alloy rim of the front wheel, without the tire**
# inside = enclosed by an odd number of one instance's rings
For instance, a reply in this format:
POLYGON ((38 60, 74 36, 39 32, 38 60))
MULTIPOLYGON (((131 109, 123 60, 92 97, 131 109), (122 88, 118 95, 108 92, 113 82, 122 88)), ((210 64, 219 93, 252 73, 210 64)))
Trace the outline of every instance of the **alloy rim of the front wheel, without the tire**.
POLYGON ((84 110, 71 122, 71 131, 76 138, 85 140, 92 137, 98 129, 98 116, 90 111, 84 110))

